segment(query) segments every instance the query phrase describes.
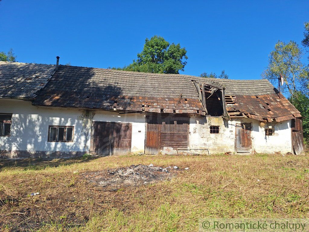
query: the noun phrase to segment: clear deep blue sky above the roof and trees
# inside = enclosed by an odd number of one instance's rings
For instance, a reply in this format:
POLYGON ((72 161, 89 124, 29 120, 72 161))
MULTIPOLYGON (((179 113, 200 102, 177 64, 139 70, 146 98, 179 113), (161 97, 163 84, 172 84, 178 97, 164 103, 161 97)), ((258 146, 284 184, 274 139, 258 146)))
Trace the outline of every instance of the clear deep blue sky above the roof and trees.
POLYGON ((0 15, 0 51, 19 62, 122 67, 160 35, 187 49, 183 74, 260 79, 279 39, 300 44, 309 2, 2 0, 0 15))

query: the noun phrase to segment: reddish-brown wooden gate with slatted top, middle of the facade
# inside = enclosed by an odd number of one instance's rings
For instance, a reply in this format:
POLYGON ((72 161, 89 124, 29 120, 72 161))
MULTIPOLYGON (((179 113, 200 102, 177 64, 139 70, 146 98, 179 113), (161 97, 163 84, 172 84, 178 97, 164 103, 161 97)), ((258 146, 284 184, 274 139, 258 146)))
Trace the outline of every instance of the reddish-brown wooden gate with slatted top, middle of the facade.
POLYGON ((188 149, 188 116, 146 116, 145 154, 158 154, 163 147, 188 149))

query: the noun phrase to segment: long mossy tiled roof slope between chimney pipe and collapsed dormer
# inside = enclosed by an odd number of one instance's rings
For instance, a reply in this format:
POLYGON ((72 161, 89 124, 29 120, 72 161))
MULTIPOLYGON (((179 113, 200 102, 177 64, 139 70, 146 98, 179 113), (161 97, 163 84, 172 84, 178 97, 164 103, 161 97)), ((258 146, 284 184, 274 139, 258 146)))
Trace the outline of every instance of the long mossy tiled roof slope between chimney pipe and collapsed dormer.
POLYGON ((204 114, 185 75, 60 65, 34 105, 153 113, 204 114))

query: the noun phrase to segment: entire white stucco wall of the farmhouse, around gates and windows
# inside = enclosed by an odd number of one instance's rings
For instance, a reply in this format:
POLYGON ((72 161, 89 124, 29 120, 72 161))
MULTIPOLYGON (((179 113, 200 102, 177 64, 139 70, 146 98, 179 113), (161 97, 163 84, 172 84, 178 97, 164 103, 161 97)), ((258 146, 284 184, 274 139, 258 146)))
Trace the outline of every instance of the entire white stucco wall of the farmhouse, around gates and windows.
MULTIPOLYGON (((27 151, 34 156, 43 156, 44 153, 45 157, 53 152, 61 152, 58 156, 87 153, 93 121, 132 123, 131 152, 144 152, 145 114, 36 107, 31 102, 12 99, 0 99, 0 113, 13 114, 11 136, 0 136, 0 150, 11 150, 11 157, 17 156, 14 155, 15 151, 27 151), (48 142, 49 125, 74 126, 73 142, 48 142)), ((291 152, 290 120, 270 123, 275 133, 273 136, 265 136, 264 127, 260 127, 260 122, 254 119, 223 121, 221 117, 200 115, 190 117, 189 148, 198 149, 201 153, 203 149, 204 153, 208 153, 205 149, 210 153, 235 152, 235 125, 241 122, 252 123, 252 152, 291 152), (220 127, 219 134, 210 134, 211 125, 220 127)))

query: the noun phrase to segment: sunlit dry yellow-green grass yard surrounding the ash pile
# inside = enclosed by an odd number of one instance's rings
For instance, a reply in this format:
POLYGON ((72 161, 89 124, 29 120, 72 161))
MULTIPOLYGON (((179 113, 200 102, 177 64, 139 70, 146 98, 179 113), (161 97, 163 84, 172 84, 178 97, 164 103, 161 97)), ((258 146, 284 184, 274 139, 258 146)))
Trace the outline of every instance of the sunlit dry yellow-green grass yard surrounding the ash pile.
POLYGON ((309 217, 309 159, 278 154, 0 160, 1 231, 197 231, 203 217, 309 217), (81 176, 153 163, 171 181, 103 191, 81 176), (30 196, 32 192, 39 195, 30 196))

